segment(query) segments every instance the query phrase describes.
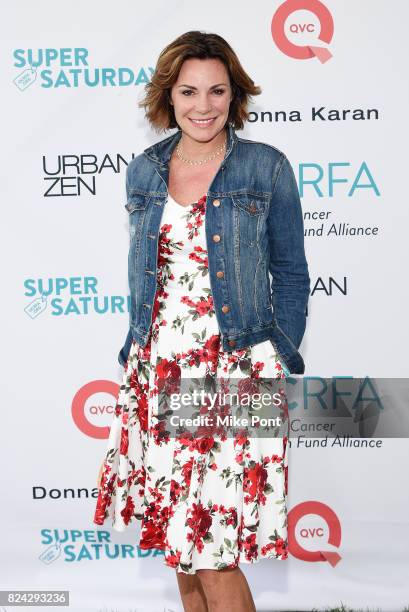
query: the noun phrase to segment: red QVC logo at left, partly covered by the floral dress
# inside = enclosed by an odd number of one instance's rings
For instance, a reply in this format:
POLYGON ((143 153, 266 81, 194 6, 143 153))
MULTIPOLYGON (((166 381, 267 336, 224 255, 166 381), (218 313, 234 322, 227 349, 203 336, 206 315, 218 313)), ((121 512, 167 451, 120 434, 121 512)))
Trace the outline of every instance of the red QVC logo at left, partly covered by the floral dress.
POLYGON ((118 393, 119 385, 111 380, 93 380, 81 387, 71 406, 72 418, 78 429, 90 438, 108 438, 109 425, 97 425, 91 419, 95 417, 98 420, 101 416, 108 415, 112 420, 118 393), (107 396, 112 396, 114 401, 107 396))

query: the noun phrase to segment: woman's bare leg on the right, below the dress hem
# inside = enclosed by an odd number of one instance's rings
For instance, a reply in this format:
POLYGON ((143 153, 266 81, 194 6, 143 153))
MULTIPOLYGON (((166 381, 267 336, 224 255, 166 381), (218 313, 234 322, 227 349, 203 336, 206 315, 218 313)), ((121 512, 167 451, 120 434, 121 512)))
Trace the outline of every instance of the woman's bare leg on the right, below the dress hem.
POLYGON ((197 570, 209 612, 256 612, 246 577, 239 567, 197 570))

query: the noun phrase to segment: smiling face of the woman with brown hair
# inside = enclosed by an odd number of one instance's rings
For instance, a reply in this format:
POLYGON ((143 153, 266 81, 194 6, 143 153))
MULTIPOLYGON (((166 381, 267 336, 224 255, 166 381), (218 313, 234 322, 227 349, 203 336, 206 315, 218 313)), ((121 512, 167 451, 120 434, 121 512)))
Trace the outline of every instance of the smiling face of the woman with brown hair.
POLYGON ((219 59, 185 60, 171 89, 180 129, 199 142, 212 140, 224 128, 231 99, 229 74, 219 59))

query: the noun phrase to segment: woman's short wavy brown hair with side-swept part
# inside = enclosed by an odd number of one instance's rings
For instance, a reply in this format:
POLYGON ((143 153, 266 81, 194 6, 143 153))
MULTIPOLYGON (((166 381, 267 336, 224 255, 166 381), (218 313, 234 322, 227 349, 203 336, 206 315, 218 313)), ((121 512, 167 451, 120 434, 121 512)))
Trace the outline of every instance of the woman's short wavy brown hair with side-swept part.
POLYGON ((230 45, 218 34, 207 34, 199 30, 185 32, 168 44, 160 53, 149 83, 145 85, 145 98, 138 106, 145 108, 145 116, 156 131, 178 127, 170 90, 177 81, 185 60, 190 58, 220 59, 226 66, 232 87, 227 121, 235 129, 242 130, 249 118, 249 98, 261 93, 261 88, 245 72, 230 45))

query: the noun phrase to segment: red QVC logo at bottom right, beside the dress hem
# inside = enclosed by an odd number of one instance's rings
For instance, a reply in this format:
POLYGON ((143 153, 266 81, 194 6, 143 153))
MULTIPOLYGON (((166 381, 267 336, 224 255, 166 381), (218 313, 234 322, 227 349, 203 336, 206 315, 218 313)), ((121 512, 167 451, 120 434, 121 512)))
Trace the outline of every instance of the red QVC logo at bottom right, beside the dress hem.
POLYGON ((329 506, 306 501, 292 508, 287 520, 288 548, 294 557, 301 561, 328 561, 336 566, 341 555, 324 550, 328 544, 337 548, 341 544, 341 524, 329 506))

